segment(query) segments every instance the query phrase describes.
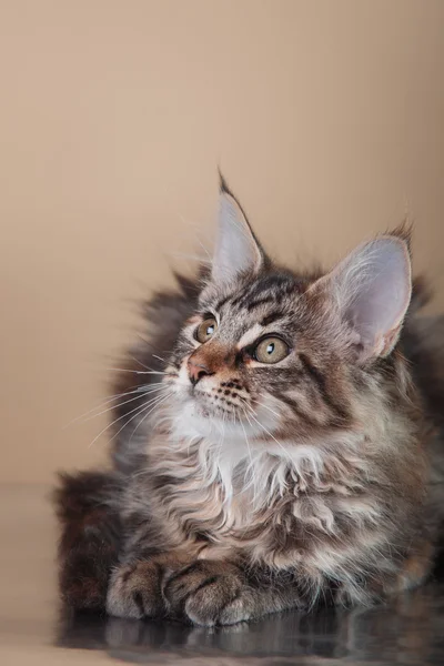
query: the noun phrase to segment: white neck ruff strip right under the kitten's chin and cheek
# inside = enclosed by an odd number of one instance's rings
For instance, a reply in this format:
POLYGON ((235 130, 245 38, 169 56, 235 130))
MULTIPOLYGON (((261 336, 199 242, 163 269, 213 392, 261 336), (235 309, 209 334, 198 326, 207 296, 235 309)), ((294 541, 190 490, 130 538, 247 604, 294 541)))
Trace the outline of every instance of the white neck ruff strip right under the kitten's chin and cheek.
POLYGON ((329 470, 342 466, 344 458, 355 458, 363 442, 356 433, 336 434, 334 442, 253 438, 245 424, 230 427, 190 413, 165 421, 163 461, 170 472, 173 468, 178 477, 193 474, 202 486, 219 485, 225 504, 244 494, 254 508, 289 492, 297 496, 323 487, 329 470))

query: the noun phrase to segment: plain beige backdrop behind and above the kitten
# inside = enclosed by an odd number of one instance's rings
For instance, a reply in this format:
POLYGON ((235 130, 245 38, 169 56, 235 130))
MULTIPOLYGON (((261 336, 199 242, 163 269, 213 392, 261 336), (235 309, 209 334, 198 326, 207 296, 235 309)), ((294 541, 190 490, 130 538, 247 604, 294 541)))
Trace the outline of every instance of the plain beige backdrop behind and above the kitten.
POLYGON ((2 0, 0 478, 90 466, 134 300, 209 245, 216 164, 287 261, 405 213, 444 304, 442 0, 2 0))

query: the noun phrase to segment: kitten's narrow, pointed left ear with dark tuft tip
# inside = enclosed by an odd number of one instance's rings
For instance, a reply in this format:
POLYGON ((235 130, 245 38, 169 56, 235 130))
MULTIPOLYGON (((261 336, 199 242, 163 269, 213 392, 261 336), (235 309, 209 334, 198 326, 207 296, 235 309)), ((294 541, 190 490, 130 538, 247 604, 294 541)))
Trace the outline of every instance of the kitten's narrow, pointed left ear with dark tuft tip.
POLYGON ((240 273, 258 273, 263 263, 263 250, 241 205, 221 176, 212 280, 231 282, 240 273))

